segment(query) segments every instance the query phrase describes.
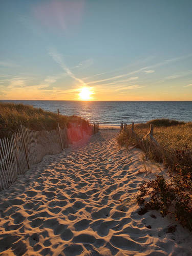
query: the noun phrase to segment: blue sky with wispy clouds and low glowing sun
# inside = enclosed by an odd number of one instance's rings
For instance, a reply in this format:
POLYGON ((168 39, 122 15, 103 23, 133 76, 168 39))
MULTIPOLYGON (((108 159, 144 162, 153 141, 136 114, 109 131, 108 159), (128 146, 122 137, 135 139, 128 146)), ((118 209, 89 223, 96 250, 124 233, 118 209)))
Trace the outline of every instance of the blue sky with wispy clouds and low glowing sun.
POLYGON ((0 99, 192 100, 191 0, 1 0, 0 99))

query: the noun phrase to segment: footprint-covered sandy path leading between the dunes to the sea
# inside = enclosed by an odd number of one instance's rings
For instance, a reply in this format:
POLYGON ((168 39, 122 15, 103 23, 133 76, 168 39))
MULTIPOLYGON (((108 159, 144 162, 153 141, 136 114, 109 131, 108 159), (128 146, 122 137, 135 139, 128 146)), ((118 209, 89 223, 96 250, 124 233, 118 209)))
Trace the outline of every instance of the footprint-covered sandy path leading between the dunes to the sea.
POLYGON ((117 132, 44 157, 0 193, 1 255, 192 255, 187 229, 158 211, 138 214, 139 185, 164 170, 119 148, 117 132))

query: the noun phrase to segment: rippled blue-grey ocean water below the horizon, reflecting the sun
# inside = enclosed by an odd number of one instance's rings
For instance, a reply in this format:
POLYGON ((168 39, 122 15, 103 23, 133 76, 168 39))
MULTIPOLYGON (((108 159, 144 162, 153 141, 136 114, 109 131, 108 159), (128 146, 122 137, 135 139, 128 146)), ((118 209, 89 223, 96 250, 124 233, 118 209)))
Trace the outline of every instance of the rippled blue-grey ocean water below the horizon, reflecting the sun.
POLYGON ((63 115, 78 115, 90 122, 120 125, 120 122, 139 123, 156 118, 192 121, 192 101, 56 101, 1 100, 32 105, 35 108, 63 115))

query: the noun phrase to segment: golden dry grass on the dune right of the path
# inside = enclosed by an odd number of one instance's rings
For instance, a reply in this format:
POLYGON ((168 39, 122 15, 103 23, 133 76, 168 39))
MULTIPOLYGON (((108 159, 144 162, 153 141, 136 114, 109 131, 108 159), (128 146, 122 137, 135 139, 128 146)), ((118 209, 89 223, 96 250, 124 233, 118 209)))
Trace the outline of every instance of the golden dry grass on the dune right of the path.
MULTIPOLYGON (((177 151, 187 148, 187 151, 192 152, 192 122, 184 123, 169 121, 168 119, 155 119, 147 123, 135 124, 134 131, 140 139, 150 130, 150 123, 154 124, 153 136, 160 144, 163 152, 159 154, 160 148, 153 146, 150 140, 146 139, 142 141, 142 150, 147 153, 148 157, 157 161, 167 162, 175 158, 177 151)), ((134 136, 131 136, 131 125, 130 129, 127 127, 127 131, 119 134, 118 142, 120 145, 126 146, 138 143, 134 136)))

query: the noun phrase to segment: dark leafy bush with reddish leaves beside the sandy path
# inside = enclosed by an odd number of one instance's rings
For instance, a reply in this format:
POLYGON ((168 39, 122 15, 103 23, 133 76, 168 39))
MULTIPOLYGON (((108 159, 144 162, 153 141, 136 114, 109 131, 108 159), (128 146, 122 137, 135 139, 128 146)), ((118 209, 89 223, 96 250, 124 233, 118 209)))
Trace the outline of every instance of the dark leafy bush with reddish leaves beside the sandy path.
POLYGON ((155 180, 144 182, 140 186, 140 194, 137 196, 139 204, 144 204, 140 213, 147 210, 158 210, 162 217, 166 215, 174 216, 183 227, 192 230, 192 205, 191 198, 185 190, 185 181, 180 179, 180 183, 175 182, 174 177, 170 181, 166 181, 163 176, 157 176, 155 180), (184 187, 184 189, 181 189, 184 187), (152 188, 152 189, 150 189, 152 188), (150 200, 146 202, 144 196, 150 196, 150 200))

